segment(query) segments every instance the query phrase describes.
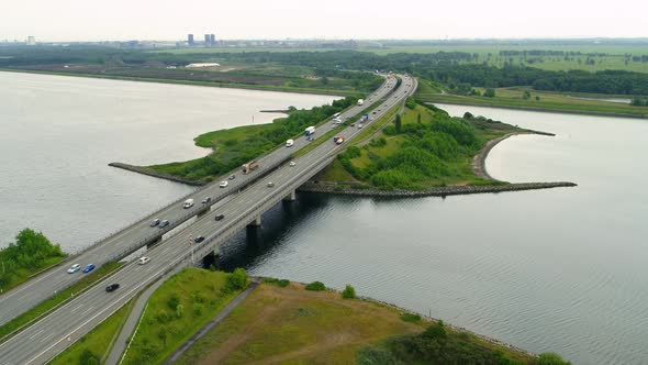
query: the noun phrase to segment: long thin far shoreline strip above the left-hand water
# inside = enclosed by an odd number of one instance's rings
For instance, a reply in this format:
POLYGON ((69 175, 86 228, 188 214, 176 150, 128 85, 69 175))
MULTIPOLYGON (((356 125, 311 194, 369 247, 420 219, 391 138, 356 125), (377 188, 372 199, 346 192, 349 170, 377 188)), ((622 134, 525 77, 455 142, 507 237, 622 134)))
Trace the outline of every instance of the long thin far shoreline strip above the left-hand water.
POLYGON ((98 74, 75 74, 75 73, 59 73, 59 71, 48 71, 48 70, 32 70, 32 69, 16 69, 16 68, 1 68, 1 67, 0 67, 0 71, 15 73, 15 74, 32 74, 32 75, 69 76, 69 77, 82 77, 82 78, 134 81, 134 82, 203 86, 203 87, 223 88, 223 89, 243 89, 243 90, 273 91, 273 92, 287 92, 287 93, 309 93, 309 95, 323 95, 323 96, 334 96, 334 97, 348 97, 348 96, 354 96, 354 95, 358 93, 358 92, 340 91, 340 90, 290 89, 290 88, 286 88, 286 87, 272 87, 272 86, 262 86, 262 85, 192 81, 192 80, 182 80, 182 79, 164 79, 164 78, 135 77, 135 76, 98 75, 98 74))

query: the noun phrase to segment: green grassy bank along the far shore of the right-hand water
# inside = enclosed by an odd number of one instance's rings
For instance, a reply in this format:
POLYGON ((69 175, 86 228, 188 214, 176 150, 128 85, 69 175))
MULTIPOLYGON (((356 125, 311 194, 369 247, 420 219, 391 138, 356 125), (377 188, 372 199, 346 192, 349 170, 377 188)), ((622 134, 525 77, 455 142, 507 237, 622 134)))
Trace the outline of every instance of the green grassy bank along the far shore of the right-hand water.
MULTIPOLYGON (((476 88, 481 90, 480 88, 476 88)), ((421 89, 416 97, 429 102, 449 102, 460 104, 492 106, 517 109, 537 109, 549 111, 577 112, 583 114, 617 114, 627 117, 648 118, 648 108, 633 107, 604 100, 583 100, 583 97, 571 97, 559 92, 543 92, 530 88, 498 88, 495 97, 442 95, 432 87, 421 89), (525 99, 527 92, 527 99, 525 99)), ((585 96, 586 97, 586 96, 585 96)), ((610 98, 610 97, 608 97, 610 98)), ((627 97, 626 97, 627 98, 627 97)))

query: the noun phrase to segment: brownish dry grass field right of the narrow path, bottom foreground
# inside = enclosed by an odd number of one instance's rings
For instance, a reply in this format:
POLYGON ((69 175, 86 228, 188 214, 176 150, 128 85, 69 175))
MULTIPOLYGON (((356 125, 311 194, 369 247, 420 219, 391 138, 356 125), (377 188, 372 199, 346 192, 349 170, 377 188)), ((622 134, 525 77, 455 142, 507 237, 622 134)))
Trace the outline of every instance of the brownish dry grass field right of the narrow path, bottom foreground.
MULTIPOLYGON (((342 299, 336 291, 310 291, 300 284, 261 284, 178 364, 370 364, 364 362, 369 360, 367 354, 377 347, 389 351, 388 339, 409 339, 429 324, 420 316, 373 301, 342 299)), ((534 356, 471 334, 448 333, 465 339, 462 351, 498 352, 515 364, 535 363, 534 356)), ((459 351, 456 354, 455 358, 460 358, 459 351)), ((393 364, 400 363, 404 362, 393 364)))

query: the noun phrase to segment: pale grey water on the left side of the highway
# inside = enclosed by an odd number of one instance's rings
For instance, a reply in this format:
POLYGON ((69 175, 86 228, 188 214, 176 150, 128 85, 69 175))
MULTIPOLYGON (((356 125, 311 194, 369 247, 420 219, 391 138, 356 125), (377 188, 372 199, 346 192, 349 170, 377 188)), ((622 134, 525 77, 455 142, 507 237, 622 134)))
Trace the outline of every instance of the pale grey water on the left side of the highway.
POLYGON ((23 228, 74 252, 193 188, 113 167, 204 156, 201 133, 327 96, 0 73, 0 247, 23 228))

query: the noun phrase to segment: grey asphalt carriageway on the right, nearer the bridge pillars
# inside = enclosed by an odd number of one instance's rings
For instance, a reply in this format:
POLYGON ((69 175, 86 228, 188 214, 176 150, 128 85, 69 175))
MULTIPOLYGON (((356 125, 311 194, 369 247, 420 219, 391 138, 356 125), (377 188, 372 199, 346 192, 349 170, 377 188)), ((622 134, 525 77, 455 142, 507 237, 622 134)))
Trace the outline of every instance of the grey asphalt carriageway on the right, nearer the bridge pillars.
MULTIPOLYGON (((416 81, 403 77, 403 82, 394 97, 388 98, 373 119, 380 118, 395 103, 402 102, 406 96, 415 90, 416 81)), ((328 126, 328 130, 331 126, 328 126)), ((350 140, 361 132, 357 128, 338 128, 342 135, 350 140)), ((315 136, 321 137, 327 130, 319 131, 315 136)), ((146 265, 132 262, 111 277, 90 288, 83 295, 46 316, 24 331, 18 333, 7 342, 0 344, 0 365, 3 364, 43 364, 65 350, 71 343, 101 323, 116 311, 127 300, 133 298, 146 285, 177 266, 191 265, 189 235, 214 237, 225 235, 227 230, 241 222, 254 219, 253 212, 265 197, 280 191, 282 196, 290 191, 287 188, 301 175, 313 176, 319 168, 338 153, 344 146, 326 141, 310 153, 295 159, 295 166, 283 164, 267 176, 258 179, 241 192, 233 193, 226 201, 219 204, 211 212, 203 214, 193 223, 183 228, 176 235, 163 241, 147 254, 152 259, 146 265), (268 187, 267 182, 273 186, 268 187), (216 214, 224 214, 222 221, 215 221, 216 214), (120 288, 107 292, 105 286, 119 283, 120 288)), ((290 150, 290 148, 286 148, 290 150)), ((294 151, 294 150, 293 150, 294 151)), ((206 243, 206 242, 205 242, 206 243)), ((197 257, 198 258, 198 257, 197 257)), ((66 274, 67 275, 67 274, 66 274)), ((82 275, 79 273, 72 275, 82 275)))

